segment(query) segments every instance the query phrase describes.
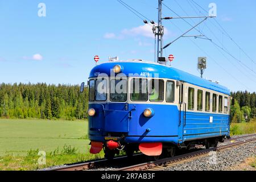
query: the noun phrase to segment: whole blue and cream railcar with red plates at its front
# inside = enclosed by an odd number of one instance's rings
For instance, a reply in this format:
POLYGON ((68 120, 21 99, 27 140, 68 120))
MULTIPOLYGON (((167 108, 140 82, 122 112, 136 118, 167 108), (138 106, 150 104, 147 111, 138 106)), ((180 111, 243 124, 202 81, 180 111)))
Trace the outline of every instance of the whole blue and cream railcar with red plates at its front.
POLYGON ((90 152, 173 156, 229 136, 230 91, 159 63, 109 61, 89 76, 90 152))

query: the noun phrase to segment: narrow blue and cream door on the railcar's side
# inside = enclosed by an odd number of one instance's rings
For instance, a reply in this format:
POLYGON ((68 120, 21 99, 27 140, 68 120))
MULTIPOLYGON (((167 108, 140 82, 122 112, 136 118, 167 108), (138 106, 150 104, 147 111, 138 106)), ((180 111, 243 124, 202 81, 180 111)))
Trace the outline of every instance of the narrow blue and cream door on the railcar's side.
POLYGON ((186 120, 186 102, 184 100, 184 93, 185 91, 185 85, 184 82, 180 82, 179 84, 179 142, 182 143, 183 141, 183 128, 185 126, 185 120, 186 120))

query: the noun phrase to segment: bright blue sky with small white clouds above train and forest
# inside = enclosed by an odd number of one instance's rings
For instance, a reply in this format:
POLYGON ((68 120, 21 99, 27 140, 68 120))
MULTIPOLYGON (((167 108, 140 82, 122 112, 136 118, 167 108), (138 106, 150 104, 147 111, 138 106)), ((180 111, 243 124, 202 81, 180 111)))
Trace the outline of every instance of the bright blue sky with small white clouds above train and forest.
MULTIPOLYGON (((123 1, 156 22, 156 0, 123 1)), ((197 57, 207 56, 204 77, 220 81, 230 90, 256 91, 256 1, 195 1, 206 10, 209 3, 216 3, 217 22, 254 63, 220 31, 213 19, 199 29, 213 42, 224 45, 241 63, 209 40, 195 38, 181 38, 164 51, 164 56, 174 55, 173 67, 197 76, 197 57)), ((206 15, 191 0, 164 3, 181 16, 206 15)), ((163 14, 175 16, 166 7, 163 14)), ((200 19, 188 21, 195 24, 200 19)), ((164 43, 190 28, 181 19, 164 20, 163 25, 164 43)), ((192 31, 188 35, 197 34, 192 31)), ((95 65, 94 55, 100 56, 100 62, 107 61, 109 56, 154 61, 154 38, 150 28, 116 0, 0 0, 0 82, 80 84, 87 80, 95 65), (38 16, 40 2, 46 4, 46 17, 38 16)))

